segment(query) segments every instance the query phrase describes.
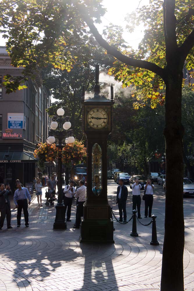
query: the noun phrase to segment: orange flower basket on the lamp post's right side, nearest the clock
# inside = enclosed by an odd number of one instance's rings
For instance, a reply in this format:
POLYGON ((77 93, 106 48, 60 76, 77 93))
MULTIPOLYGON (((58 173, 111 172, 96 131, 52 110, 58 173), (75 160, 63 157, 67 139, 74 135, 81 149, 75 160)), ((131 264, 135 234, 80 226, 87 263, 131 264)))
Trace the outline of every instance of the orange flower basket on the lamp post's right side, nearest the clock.
POLYGON ((68 168, 80 164, 85 157, 86 148, 81 141, 75 140, 74 143, 65 145, 62 150, 62 163, 68 168))

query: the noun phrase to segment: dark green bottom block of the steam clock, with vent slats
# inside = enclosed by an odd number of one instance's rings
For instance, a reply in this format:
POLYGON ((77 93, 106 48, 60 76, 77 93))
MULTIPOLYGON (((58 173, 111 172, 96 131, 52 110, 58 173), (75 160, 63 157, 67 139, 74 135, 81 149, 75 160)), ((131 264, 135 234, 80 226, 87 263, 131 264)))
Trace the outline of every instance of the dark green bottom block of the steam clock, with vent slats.
POLYGON ((114 243, 113 221, 111 220, 83 220, 79 242, 114 243))

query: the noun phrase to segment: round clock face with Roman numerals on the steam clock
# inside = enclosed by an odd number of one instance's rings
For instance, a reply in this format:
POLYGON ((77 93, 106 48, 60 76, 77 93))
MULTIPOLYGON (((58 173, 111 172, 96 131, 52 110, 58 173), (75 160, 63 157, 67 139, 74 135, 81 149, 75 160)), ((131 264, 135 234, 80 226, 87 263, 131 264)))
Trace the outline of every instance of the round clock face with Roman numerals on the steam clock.
POLYGON ((102 108, 93 108, 87 115, 87 121, 94 129, 100 129, 107 125, 108 115, 102 108))

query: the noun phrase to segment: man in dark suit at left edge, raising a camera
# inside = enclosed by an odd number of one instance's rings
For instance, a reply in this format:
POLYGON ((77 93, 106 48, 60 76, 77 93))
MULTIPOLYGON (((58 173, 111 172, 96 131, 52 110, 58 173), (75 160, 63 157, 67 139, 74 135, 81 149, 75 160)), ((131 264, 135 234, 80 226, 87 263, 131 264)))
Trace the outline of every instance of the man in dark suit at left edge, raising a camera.
POLYGON ((10 190, 9 185, 3 183, 0 184, 0 229, 3 227, 5 218, 7 219, 7 228, 13 228, 11 226, 11 207, 8 195, 11 195, 12 191, 10 190))

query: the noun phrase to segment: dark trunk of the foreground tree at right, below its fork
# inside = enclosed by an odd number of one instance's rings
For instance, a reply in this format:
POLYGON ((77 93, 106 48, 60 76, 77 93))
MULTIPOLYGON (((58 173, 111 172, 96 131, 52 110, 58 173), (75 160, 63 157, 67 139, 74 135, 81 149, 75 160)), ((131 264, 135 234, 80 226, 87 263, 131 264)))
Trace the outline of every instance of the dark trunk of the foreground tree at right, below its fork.
POLYGON ((171 66, 165 97, 166 200, 161 291, 184 291, 184 128, 181 124, 182 74, 180 70, 179 74, 177 71, 177 68, 172 69, 171 66))

